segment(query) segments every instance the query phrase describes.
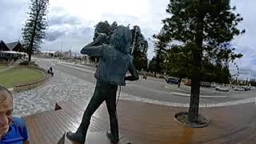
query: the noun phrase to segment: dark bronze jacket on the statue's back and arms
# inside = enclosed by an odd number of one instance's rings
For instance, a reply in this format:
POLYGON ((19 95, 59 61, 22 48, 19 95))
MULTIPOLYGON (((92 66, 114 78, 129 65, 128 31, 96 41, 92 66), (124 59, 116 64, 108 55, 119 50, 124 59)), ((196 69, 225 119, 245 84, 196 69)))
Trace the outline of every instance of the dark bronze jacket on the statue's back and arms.
POLYGON ((114 48, 114 46, 106 44, 101 46, 87 45, 82 48, 81 54, 101 57, 94 74, 99 81, 125 86, 125 77, 128 70, 130 74, 138 78, 138 73, 133 64, 134 58, 130 54, 114 48))

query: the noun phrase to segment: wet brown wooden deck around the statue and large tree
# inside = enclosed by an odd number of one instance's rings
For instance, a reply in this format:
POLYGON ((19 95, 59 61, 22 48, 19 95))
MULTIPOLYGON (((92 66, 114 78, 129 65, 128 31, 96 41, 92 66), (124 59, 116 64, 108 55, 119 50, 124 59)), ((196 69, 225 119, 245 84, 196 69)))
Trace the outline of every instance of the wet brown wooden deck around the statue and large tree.
MULTIPOLYGON (((25 118, 30 141, 56 144, 65 131, 76 130, 86 104, 58 102, 59 110, 25 118)), ((210 126, 192 129, 174 121, 174 114, 185 108, 150 103, 119 101, 120 132, 135 144, 170 143, 256 143, 256 106, 254 103, 218 108, 202 108, 211 118, 210 126)), ((109 130, 109 117, 103 104, 91 119, 89 131, 109 130)))

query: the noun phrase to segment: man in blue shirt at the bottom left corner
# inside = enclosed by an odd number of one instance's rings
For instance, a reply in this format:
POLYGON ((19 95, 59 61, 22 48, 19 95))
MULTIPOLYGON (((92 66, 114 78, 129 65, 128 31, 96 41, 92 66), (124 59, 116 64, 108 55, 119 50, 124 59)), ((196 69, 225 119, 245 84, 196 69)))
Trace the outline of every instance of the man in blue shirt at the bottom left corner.
POLYGON ((0 86, 0 143, 29 144, 29 133, 22 118, 13 117, 13 96, 0 86))

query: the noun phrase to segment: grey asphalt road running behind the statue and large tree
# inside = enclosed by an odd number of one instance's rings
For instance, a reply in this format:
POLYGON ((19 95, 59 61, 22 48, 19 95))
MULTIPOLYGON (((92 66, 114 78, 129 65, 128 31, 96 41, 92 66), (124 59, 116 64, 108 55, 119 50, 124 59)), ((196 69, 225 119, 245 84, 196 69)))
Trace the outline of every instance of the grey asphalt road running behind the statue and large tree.
MULTIPOLYGON (((95 67, 92 66, 74 66, 72 64, 59 63, 57 60, 42 59, 36 60, 39 65, 53 66, 54 74, 58 74, 58 71, 62 71, 66 74, 70 74, 76 78, 81 78, 87 82, 91 82, 95 85, 96 79, 94 78, 95 67)), ((188 94, 190 90, 183 86, 183 90, 176 90, 174 86, 167 84, 164 79, 150 78, 140 79, 135 82, 126 82, 126 86, 122 86, 122 92, 126 94, 132 94, 134 96, 142 98, 150 98, 163 102, 178 102, 178 103, 189 103, 190 97, 179 96, 173 93, 188 94), (170 87, 170 89, 168 88, 170 87)), ((178 89, 178 88, 177 88, 178 89)), ((211 96, 226 96, 222 98, 200 98, 200 103, 218 103, 218 102, 230 102, 239 99, 251 98, 255 96, 255 90, 247 92, 216 92, 213 89, 202 89, 202 94, 208 94, 211 96)))

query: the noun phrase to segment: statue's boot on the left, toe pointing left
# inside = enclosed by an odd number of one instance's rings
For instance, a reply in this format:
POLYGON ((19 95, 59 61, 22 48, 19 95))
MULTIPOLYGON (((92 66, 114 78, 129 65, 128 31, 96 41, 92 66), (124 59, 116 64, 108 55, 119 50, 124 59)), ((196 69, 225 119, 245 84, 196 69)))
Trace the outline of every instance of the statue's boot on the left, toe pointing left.
POLYGON ((66 137, 71 141, 86 142, 86 133, 88 126, 90 125, 90 118, 82 118, 82 122, 75 133, 67 132, 66 137), (89 119, 89 120, 88 120, 89 119))

